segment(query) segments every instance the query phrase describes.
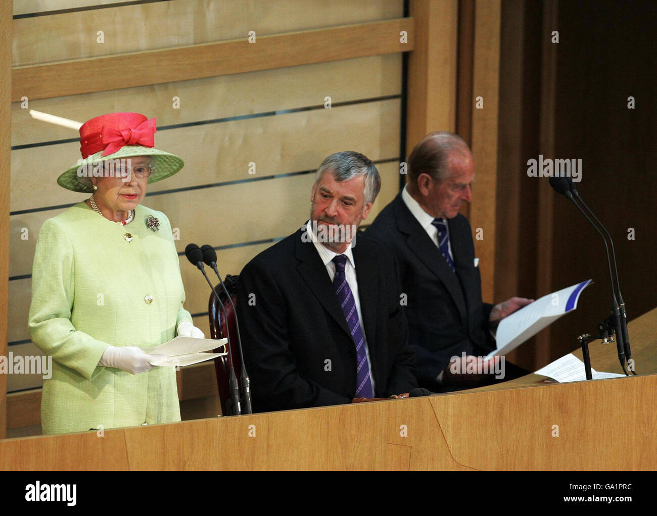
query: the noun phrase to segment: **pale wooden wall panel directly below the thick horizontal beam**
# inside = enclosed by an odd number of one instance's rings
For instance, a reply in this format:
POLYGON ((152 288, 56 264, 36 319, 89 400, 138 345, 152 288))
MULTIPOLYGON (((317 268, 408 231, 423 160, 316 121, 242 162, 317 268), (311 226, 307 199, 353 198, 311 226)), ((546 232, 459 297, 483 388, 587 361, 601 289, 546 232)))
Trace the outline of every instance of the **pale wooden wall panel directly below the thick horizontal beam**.
MULTIPOLYGON (((205 79, 175 81, 70 97, 31 100, 29 109, 83 122, 99 114, 138 112, 158 119, 158 127, 216 121, 252 114, 333 106, 363 98, 401 93, 401 54, 386 54, 327 63, 261 70, 205 79), (363 78, 376 77, 374 80, 363 78), (248 92, 246 95, 244 92, 248 92), (173 108, 173 97, 180 107, 173 108)), ((12 104, 12 146, 79 138, 78 131, 36 120, 12 104)), ((162 132, 156 135, 156 143, 162 132)), ((76 154, 79 154, 76 148, 76 154)), ((70 159, 70 157, 69 157, 70 159)), ((60 163, 67 166, 67 163, 60 163)))

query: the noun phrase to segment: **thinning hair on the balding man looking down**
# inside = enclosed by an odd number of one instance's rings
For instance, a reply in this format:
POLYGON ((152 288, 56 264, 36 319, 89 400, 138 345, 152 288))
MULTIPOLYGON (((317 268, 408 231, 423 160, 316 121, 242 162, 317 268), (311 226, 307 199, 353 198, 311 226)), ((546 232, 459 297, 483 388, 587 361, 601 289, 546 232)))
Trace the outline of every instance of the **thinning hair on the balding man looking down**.
POLYGON ((438 183, 451 177, 450 160, 470 156, 468 144, 459 135, 438 131, 429 133, 415 146, 408 161, 409 183, 417 186, 420 174, 428 174, 438 183))

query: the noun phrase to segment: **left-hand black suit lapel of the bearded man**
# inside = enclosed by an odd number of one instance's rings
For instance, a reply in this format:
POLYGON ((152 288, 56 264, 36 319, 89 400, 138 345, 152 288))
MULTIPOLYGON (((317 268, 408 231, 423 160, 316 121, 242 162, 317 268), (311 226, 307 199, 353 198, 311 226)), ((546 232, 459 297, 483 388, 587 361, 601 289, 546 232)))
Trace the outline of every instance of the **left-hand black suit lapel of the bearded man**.
POLYGON ((319 303, 351 338, 347 320, 344 317, 340 303, 338 303, 338 296, 333 290, 333 284, 328 277, 326 267, 322 263, 313 243, 302 241, 303 232, 304 230, 300 229, 296 234, 296 257, 300 261, 296 269, 304 278, 310 290, 313 291, 319 303))

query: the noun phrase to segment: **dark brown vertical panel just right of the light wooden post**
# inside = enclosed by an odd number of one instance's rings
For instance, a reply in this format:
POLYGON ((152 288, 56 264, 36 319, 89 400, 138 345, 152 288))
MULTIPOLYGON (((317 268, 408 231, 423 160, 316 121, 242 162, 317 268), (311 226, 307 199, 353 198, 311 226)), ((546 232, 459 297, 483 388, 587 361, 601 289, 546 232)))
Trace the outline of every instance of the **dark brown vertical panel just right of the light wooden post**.
MULTIPOLYGON (((528 177, 527 160, 539 155, 541 45, 540 3, 502 3, 499 83, 499 156, 497 165, 497 231, 495 232, 495 299, 514 295, 536 298, 538 223, 541 180, 528 177)), ((507 360, 537 370, 535 339, 507 355, 507 360)))

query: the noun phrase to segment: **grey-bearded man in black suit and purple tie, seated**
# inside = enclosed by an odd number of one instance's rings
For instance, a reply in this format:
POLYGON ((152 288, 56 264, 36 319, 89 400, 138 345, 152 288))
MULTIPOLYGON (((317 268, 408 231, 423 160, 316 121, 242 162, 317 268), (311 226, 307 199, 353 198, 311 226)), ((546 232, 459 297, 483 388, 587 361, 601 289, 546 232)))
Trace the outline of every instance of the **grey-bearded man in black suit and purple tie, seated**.
POLYGON ((240 273, 237 314, 254 411, 417 387, 394 257, 356 234, 379 189, 365 156, 332 154, 317 169, 308 223, 240 273))

